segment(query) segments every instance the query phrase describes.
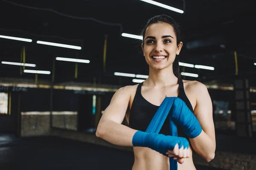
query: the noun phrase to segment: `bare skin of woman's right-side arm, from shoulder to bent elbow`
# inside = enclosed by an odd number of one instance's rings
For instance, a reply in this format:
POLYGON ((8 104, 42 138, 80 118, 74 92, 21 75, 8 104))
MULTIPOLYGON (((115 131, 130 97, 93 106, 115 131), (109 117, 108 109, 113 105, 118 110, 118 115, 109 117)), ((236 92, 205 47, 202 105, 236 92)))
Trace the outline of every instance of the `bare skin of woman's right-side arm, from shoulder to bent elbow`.
POLYGON ((194 85, 195 93, 193 94, 196 94, 194 114, 203 130, 199 136, 189 139, 189 141, 195 152, 209 162, 214 159, 216 148, 212 100, 204 84, 197 82, 194 85))

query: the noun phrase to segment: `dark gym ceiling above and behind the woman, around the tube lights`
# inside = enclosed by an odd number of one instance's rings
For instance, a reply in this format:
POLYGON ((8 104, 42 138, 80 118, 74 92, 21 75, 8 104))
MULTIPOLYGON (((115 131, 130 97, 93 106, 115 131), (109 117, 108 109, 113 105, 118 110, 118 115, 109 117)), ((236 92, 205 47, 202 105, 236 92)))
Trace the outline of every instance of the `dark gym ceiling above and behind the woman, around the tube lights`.
MULTIPOLYGON (((140 40, 122 37, 139 35, 147 20, 167 14, 180 23, 184 46, 180 61, 209 65, 214 71, 185 68, 197 73, 199 81, 232 77, 235 74, 234 51, 238 55, 239 74, 255 76, 255 5, 253 0, 157 0, 184 9, 179 14, 140 0, 0 0, 0 35, 32 39, 32 42, 0 39, 1 61, 20 62, 21 48, 26 48, 26 62, 38 70, 52 71, 55 57, 89 59, 79 63, 55 62, 55 80, 122 85, 134 84, 132 78, 116 77, 113 72, 148 74, 140 40), (184 4, 185 2, 185 4, 184 4), (103 48, 108 35, 106 72, 103 72, 103 48), (81 50, 39 45, 37 40, 79 45, 81 50)), ((181 67, 183 70, 184 68, 181 67)), ((0 64, 1 77, 20 76, 18 66, 0 64)), ((52 79, 40 75, 39 79, 52 79)))

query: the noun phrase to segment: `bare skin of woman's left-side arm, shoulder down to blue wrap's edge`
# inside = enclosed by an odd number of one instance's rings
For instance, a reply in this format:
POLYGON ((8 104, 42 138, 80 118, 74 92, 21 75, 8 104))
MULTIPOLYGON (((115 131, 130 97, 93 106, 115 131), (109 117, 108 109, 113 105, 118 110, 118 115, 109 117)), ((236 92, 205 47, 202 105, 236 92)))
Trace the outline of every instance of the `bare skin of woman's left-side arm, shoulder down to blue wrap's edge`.
POLYGON ((131 86, 119 88, 102 114, 96 136, 111 144, 133 146, 132 139, 137 130, 122 125, 130 101, 131 86))

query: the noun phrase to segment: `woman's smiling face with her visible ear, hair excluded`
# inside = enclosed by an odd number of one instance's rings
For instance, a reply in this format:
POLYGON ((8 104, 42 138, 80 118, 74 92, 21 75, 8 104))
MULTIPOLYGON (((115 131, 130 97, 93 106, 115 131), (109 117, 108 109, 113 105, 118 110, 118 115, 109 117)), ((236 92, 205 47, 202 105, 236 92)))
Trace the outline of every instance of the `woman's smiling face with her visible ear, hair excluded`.
POLYGON ((146 62, 156 70, 172 66, 183 44, 180 42, 177 46, 175 32, 168 23, 155 23, 148 26, 144 42, 142 49, 146 62))

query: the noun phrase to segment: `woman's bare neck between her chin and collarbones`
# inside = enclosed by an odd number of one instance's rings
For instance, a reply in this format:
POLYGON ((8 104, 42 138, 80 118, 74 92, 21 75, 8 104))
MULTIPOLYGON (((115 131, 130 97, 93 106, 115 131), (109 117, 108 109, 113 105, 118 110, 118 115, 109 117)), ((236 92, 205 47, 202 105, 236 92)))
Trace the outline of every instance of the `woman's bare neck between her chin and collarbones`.
POLYGON ((174 85, 177 83, 177 77, 175 77, 172 67, 164 68, 162 70, 154 70, 149 68, 148 79, 145 80, 148 86, 165 87, 168 85, 174 85))

